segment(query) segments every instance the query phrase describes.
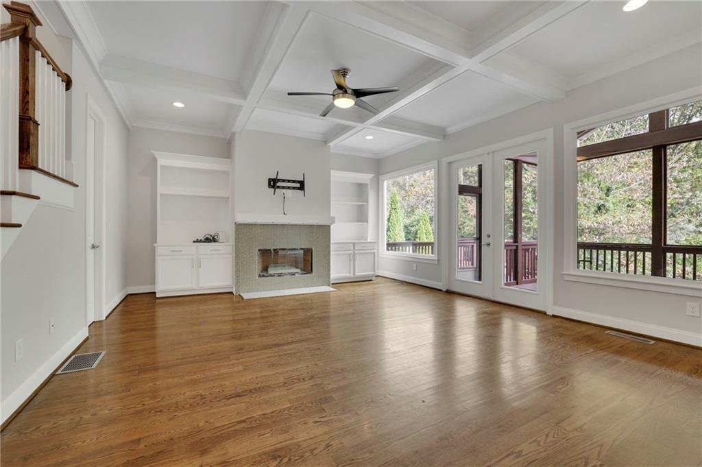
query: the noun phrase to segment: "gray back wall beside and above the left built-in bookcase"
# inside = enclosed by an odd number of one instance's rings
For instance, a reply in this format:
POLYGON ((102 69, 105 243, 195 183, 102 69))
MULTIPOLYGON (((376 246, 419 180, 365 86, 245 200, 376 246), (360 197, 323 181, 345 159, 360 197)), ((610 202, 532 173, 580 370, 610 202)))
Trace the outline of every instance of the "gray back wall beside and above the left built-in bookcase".
POLYGON ((156 157, 152 151, 230 157, 225 138, 134 127, 128 143, 127 286, 153 288, 156 157))

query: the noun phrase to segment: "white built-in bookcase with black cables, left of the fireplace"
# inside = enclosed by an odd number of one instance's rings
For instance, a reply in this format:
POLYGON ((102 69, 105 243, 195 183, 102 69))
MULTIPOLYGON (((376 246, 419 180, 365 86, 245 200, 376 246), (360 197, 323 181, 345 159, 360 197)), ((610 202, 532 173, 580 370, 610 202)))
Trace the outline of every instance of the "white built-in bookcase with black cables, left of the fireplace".
POLYGON ((231 161, 156 152, 156 296, 234 291, 231 161), (194 243, 219 232, 218 243, 194 243))

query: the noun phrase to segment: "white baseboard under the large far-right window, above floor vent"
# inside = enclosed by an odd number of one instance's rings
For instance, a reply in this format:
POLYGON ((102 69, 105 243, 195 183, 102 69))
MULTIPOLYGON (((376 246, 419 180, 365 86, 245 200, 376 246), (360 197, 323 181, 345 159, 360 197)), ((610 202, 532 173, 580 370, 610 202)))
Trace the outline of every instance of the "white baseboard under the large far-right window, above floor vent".
POLYGON ((656 324, 626 320, 624 318, 600 315, 599 313, 590 313, 588 311, 574 310, 573 308, 563 308, 559 306, 553 307, 553 315, 702 347, 702 334, 682 331, 681 329, 673 329, 671 327, 658 326, 656 324))

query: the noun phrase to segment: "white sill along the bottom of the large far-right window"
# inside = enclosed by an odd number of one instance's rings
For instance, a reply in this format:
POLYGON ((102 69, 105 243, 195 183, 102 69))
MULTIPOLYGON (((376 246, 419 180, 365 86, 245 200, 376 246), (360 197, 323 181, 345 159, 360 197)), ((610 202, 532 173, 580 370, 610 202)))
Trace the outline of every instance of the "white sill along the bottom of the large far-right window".
POLYGON ((702 298, 702 284, 692 280, 581 270, 564 271, 562 272, 562 275, 563 279, 572 282, 584 282, 586 284, 624 287, 626 289, 639 289, 662 292, 664 294, 685 295, 702 298))

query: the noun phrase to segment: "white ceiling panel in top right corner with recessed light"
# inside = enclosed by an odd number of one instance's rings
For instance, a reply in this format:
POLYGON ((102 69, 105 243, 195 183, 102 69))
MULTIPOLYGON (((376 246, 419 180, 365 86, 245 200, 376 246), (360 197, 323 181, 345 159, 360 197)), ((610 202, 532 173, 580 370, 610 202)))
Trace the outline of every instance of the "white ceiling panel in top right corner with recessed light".
POLYGON ((701 1, 649 1, 622 11, 623 1, 591 1, 510 48, 567 78, 702 27, 701 1))

